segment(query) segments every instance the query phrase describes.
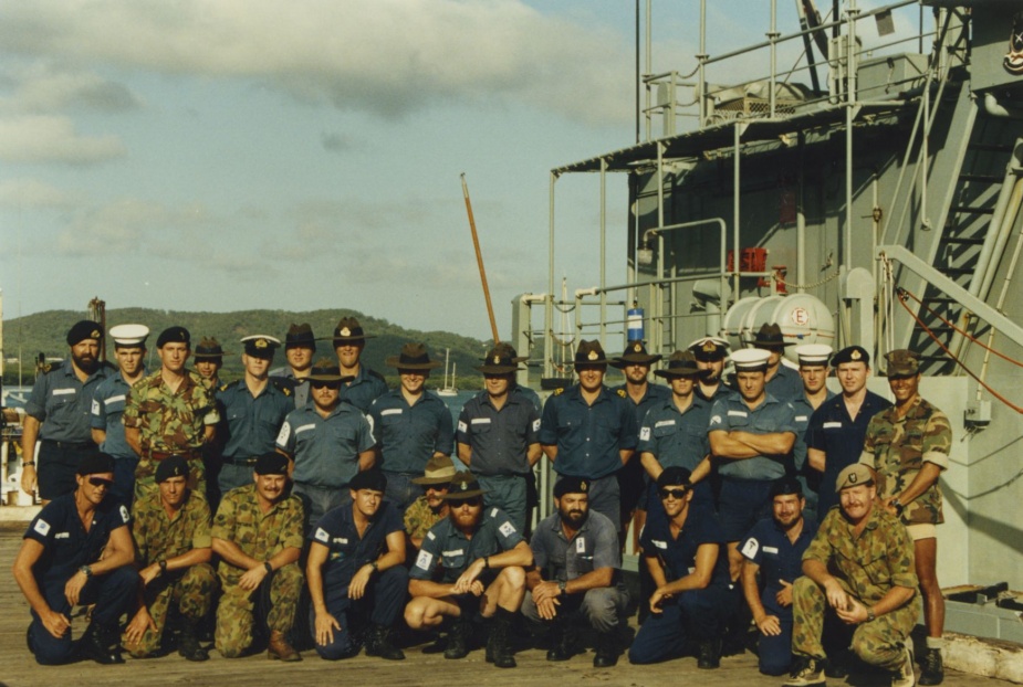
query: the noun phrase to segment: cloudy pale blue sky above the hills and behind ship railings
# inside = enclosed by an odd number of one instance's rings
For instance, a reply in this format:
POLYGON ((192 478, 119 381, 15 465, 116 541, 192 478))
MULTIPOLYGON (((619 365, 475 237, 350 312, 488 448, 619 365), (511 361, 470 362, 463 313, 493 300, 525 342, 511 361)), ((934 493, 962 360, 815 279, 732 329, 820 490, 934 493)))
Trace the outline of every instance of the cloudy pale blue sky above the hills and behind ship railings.
MULTIPOLYGON (((708 4, 711 52, 763 40, 766 0, 708 4)), ((783 32, 797 28, 793 4, 779 2, 783 32)), ((699 2, 651 7, 653 71, 690 71, 699 2)), ((355 309, 486 339, 464 173, 507 338, 511 299, 546 290, 550 170, 635 139, 635 11, 2 2, 3 318, 84 313, 98 296, 107 308, 355 309)), ((748 78, 762 56, 728 70, 748 78)), ((610 179, 609 284, 625 281, 625 189, 610 179)), ((595 286, 597 177, 559 180, 555 216, 557 278, 595 286)))

